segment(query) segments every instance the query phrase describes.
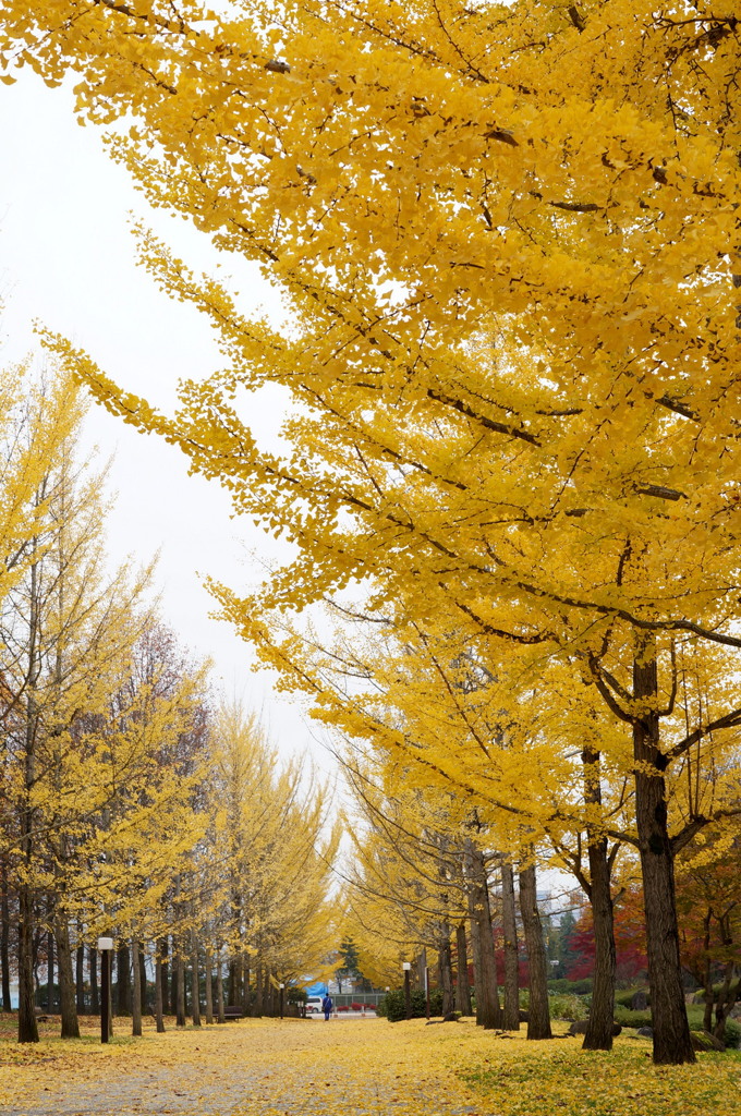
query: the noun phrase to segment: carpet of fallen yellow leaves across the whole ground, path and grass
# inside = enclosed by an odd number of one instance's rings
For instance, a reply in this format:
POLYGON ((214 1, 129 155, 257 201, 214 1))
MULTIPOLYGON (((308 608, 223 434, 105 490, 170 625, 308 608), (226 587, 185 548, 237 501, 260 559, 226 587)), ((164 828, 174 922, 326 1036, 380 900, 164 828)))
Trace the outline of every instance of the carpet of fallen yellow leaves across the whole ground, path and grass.
MULTIPOLYGON (((649 1043, 581 1054, 473 1021, 241 1020, 100 1046, 0 1041, 1 1116, 741 1116, 741 1055, 652 1065, 649 1043)), ((117 1020, 123 1032, 123 1020, 117 1020)), ((560 1028, 562 1030, 562 1027, 560 1028)))

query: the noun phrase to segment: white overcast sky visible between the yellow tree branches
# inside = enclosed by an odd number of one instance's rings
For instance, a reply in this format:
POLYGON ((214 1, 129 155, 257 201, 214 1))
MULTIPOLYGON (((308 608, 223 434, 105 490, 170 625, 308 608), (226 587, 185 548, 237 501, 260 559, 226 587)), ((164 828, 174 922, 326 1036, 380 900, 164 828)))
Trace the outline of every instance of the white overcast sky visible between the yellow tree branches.
MULTIPOLYGON (((195 268, 213 271, 219 257, 204 238, 150 210, 126 172, 106 156, 100 134, 76 123, 68 89, 48 89, 30 73, 0 86, 0 359, 38 348, 38 319, 85 348, 122 386, 170 408, 179 378, 219 367, 220 354, 205 319, 167 299, 135 267, 132 213, 195 268)), ((235 266, 222 259, 227 275, 235 266)), ((264 305, 278 312, 256 271, 243 267, 235 281, 243 308, 264 305)), ((251 416, 267 443, 279 420, 278 400, 269 396, 251 416)), ((194 653, 213 658, 214 680, 228 694, 263 709, 281 751, 306 745, 316 753, 300 710, 275 694, 268 674, 251 673, 249 646, 209 618, 211 598, 202 586, 204 575, 238 589, 254 584, 260 558, 273 558, 276 545, 251 523, 231 520, 227 494, 187 477, 185 458, 172 446, 97 406, 87 436, 103 459, 115 455, 113 561, 129 555, 144 561, 158 550, 165 620, 194 653)), ((326 766, 324 750, 317 759, 326 766)))

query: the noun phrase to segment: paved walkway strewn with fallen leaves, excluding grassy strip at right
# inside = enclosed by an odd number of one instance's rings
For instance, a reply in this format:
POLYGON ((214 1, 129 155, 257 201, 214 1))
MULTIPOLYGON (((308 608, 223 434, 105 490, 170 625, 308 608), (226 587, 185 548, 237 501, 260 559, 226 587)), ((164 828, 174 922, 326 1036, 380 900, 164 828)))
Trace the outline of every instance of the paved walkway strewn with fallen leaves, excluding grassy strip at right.
POLYGON ((466 1024, 242 1020, 0 1049, 1 1116, 473 1116, 448 1068, 466 1024))

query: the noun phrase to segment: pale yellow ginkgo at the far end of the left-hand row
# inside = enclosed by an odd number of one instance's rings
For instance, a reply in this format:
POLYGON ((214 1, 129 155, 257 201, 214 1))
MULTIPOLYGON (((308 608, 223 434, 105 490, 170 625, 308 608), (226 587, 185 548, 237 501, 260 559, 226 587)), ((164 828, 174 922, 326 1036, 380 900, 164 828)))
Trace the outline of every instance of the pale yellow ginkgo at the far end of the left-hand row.
POLYGON ((279 985, 331 972, 330 887, 341 827, 329 788, 280 763, 254 713, 224 702, 213 725, 208 797, 220 866, 211 933, 229 953, 229 997, 256 1014, 279 985))

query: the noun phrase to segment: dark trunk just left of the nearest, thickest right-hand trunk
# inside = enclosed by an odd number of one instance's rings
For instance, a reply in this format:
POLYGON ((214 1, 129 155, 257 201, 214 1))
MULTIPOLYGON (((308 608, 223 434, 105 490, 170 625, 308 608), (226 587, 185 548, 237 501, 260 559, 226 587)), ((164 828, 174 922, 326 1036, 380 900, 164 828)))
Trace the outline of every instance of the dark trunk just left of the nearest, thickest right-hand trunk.
MULTIPOLYGON (((584 800, 590 806, 602 806, 599 752, 585 748, 584 800)), ((589 904, 595 934, 595 972, 591 1007, 584 1050, 613 1049, 613 1017, 615 1014, 615 929, 613 921, 613 889, 610 866, 607 859, 607 837, 587 826, 589 856, 589 904)))

